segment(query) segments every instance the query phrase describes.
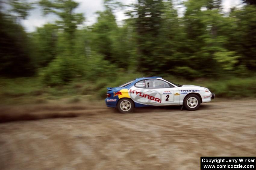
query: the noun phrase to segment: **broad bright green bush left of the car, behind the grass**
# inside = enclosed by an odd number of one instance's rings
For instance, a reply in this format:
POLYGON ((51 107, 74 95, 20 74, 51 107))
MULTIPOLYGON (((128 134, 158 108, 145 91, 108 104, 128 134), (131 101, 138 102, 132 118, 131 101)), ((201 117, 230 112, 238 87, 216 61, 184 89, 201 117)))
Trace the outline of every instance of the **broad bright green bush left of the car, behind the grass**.
POLYGON ((55 86, 66 85, 74 80, 95 81, 99 77, 115 77, 117 73, 117 67, 95 54, 87 58, 58 56, 39 72, 39 76, 45 85, 55 86))

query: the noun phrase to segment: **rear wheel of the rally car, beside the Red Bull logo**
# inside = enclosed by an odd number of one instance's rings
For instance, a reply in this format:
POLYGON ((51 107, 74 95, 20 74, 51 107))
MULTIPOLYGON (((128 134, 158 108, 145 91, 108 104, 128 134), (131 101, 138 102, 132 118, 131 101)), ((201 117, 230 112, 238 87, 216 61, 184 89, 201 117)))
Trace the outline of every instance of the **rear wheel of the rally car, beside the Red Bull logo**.
POLYGON ((131 99, 120 99, 117 103, 117 110, 120 113, 131 113, 134 110, 134 103, 131 99))

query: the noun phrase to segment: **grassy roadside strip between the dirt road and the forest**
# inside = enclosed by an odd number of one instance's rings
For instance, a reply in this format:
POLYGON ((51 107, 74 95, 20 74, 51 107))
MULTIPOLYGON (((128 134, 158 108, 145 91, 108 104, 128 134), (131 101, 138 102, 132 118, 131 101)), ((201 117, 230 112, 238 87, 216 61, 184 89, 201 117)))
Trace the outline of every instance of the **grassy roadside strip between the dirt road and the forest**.
MULTIPOLYGON (((78 103, 83 100, 102 100, 106 88, 128 82, 139 75, 122 75, 112 78, 99 78, 96 82, 76 81, 68 85, 50 87, 43 85, 38 78, 17 78, 0 81, 0 103, 25 104, 47 103, 51 100, 65 100, 66 103, 78 103)), ((256 77, 226 79, 197 79, 188 81, 176 77, 164 77, 179 84, 198 85, 209 88, 218 98, 254 98, 256 97, 256 77)))

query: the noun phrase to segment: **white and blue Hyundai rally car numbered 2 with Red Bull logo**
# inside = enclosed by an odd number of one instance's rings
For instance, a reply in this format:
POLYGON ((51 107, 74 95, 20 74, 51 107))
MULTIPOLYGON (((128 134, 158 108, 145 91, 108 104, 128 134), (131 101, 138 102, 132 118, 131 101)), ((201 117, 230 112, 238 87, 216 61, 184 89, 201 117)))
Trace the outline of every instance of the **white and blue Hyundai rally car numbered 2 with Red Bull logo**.
POLYGON ((201 103, 215 97, 208 88, 179 85, 162 77, 137 78, 107 90, 106 105, 121 113, 130 113, 134 107, 143 106, 183 105, 187 110, 196 110, 201 103))

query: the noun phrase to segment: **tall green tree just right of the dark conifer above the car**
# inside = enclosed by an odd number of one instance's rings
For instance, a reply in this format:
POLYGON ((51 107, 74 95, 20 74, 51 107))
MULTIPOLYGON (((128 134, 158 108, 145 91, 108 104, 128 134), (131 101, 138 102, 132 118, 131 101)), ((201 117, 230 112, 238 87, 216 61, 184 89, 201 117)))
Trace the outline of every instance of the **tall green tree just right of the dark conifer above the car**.
POLYGON ((178 61, 183 58, 184 28, 177 11, 173 8, 172 1, 164 2, 162 12, 162 26, 159 30, 156 48, 158 67, 166 73, 173 73, 172 70, 176 69, 178 61))

